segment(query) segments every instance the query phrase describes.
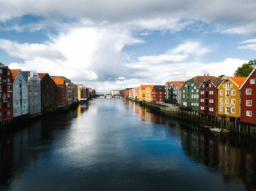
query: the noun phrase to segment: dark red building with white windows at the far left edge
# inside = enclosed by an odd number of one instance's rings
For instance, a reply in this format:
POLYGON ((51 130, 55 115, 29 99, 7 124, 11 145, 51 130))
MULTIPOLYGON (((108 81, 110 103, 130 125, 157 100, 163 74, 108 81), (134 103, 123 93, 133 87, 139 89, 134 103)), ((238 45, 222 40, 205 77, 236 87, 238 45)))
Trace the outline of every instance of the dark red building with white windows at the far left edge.
POLYGON ((0 121, 13 118, 12 72, 8 66, 0 67, 0 121))

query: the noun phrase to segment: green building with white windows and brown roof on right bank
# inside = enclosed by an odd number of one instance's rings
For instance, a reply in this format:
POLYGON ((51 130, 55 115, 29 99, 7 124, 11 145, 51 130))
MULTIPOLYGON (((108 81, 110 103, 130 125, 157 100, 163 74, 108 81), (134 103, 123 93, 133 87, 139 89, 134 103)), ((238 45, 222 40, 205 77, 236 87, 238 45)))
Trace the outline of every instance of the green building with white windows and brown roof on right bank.
POLYGON ((199 86, 212 77, 196 76, 187 80, 181 88, 181 105, 199 112, 199 86))

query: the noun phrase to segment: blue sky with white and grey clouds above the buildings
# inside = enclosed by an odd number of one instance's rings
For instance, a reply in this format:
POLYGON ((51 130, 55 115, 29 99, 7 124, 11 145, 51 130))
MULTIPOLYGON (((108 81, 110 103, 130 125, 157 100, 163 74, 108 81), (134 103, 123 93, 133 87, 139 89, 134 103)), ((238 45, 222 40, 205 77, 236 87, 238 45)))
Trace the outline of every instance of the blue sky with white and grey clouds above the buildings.
POLYGON ((1 0, 0 8, 1 63, 98 92, 232 76, 256 58, 255 0, 1 0))

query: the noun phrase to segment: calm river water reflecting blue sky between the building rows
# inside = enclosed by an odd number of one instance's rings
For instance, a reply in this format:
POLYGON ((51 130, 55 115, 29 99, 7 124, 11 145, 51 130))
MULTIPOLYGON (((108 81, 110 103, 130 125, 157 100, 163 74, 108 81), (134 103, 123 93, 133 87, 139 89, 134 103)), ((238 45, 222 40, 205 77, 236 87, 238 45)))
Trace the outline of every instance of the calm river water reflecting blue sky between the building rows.
POLYGON ((97 98, 1 133, 0 190, 256 190, 255 141, 97 98))

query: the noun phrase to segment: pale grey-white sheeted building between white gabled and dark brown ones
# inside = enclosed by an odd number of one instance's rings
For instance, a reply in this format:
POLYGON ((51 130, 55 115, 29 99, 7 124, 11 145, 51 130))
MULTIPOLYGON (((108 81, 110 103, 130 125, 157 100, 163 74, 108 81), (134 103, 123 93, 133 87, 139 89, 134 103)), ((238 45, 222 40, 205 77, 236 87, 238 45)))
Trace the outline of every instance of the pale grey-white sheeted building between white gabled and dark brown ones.
POLYGON ((41 83, 36 71, 22 71, 29 90, 29 114, 41 113, 41 83))

